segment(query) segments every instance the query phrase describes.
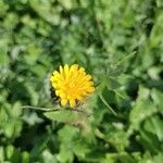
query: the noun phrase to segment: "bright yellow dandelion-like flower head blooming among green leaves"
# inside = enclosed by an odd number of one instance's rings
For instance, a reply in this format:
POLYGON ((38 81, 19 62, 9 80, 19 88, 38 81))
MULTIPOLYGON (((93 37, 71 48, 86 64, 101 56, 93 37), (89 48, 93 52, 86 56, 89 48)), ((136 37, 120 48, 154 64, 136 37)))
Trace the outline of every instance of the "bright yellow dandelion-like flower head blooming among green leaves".
POLYGON ((95 91, 92 77, 77 64, 60 66, 59 72, 52 73, 50 80, 61 104, 68 103, 71 108, 76 106, 78 102, 83 103, 85 98, 95 91))

